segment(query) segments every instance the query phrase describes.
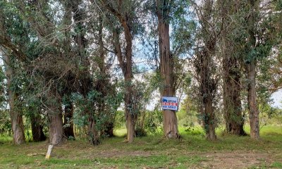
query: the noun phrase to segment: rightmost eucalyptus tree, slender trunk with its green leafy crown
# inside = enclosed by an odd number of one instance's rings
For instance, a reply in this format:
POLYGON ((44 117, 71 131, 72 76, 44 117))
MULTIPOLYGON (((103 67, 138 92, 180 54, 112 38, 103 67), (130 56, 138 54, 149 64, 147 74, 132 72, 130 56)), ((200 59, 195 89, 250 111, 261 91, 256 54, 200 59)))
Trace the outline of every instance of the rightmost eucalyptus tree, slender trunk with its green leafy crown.
MULTIPOLYGON (((274 2, 249 0, 245 4, 245 74, 247 78, 247 108, 250 118, 250 137, 259 139, 259 108, 257 94, 259 90, 257 76, 263 73, 266 59, 274 56, 279 46, 279 30, 281 23, 274 2), (277 22, 278 21, 278 22, 277 22), (277 33, 278 32, 278 33, 277 33)), ((280 11, 281 12, 281 11, 280 11)))

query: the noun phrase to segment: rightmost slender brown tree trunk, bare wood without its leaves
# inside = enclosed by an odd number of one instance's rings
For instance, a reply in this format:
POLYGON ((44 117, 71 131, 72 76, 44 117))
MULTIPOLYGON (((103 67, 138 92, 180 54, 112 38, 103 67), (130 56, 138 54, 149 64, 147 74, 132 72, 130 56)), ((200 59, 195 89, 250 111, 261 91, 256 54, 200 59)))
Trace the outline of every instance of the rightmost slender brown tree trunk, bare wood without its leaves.
MULTIPOLYGON (((259 8, 255 0, 249 0, 250 4, 250 16, 247 19, 247 22, 250 24, 248 27, 249 39, 248 42, 250 46, 250 51, 255 50, 256 46, 256 37, 255 37, 255 12, 259 8)), ((257 108, 257 94, 256 94, 256 56, 247 56, 250 57, 250 61, 247 61, 247 106, 249 109, 249 118, 250 118, 250 137, 253 139, 259 139, 259 110, 257 108)))

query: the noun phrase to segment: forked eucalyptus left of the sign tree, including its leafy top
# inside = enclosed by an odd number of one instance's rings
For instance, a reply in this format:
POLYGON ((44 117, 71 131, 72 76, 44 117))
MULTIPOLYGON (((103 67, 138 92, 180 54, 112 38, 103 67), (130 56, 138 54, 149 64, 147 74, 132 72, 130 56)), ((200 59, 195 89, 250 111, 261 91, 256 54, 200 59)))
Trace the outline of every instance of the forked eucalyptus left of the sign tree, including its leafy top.
POLYGON ((106 1, 99 4, 107 11, 105 15, 111 18, 109 31, 113 37, 114 54, 123 73, 125 81, 125 119, 127 127, 127 141, 133 142, 135 136, 135 121, 137 112, 133 102, 133 39, 142 27, 138 23, 138 10, 142 1, 106 1), (117 20, 114 21, 114 20, 117 20), (124 39, 123 39, 124 38, 124 39))

